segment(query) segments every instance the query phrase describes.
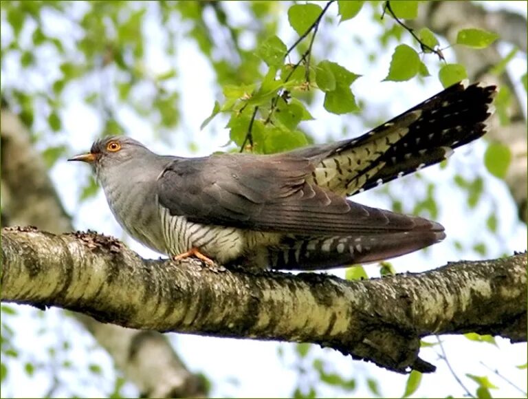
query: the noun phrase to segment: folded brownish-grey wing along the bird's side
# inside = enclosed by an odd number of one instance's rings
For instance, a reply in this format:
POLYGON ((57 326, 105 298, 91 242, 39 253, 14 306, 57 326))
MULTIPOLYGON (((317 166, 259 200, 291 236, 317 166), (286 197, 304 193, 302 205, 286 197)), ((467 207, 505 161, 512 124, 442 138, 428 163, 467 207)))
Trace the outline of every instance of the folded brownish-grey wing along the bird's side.
POLYGON ((179 158, 159 175, 157 195, 171 215, 250 230, 305 235, 443 230, 310 184, 312 169, 310 160, 288 153, 179 158))

